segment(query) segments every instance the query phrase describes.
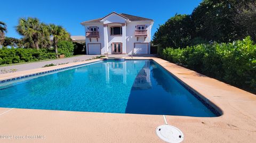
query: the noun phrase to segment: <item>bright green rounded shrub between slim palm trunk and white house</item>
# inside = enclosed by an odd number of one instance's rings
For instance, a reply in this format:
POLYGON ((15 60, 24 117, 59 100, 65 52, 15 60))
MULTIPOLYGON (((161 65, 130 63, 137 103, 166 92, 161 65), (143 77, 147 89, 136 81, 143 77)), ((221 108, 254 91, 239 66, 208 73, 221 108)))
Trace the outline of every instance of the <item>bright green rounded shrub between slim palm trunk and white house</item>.
POLYGON ((59 41, 58 42, 58 52, 59 54, 64 54, 66 57, 73 56, 74 45, 72 41, 59 41))

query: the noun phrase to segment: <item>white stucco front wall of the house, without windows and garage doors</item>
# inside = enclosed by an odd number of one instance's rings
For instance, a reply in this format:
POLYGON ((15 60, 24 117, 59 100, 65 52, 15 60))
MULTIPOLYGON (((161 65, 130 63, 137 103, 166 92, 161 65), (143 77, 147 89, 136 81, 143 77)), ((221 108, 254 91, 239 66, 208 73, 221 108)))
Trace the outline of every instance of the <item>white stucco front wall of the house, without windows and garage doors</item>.
MULTIPOLYGON (((90 30, 90 27, 98 27, 99 37, 97 38, 86 38, 85 43, 100 43, 101 44, 101 54, 112 54, 112 44, 113 43, 122 43, 122 54, 133 53, 134 43, 148 43, 148 54, 150 54, 150 38, 151 38, 151 28, 153 26, 152 21, 128 21, 125 20, 122 16, 117 14, 111 14, 106 18, 101 20, 101 23, 86 23, 85 24, 85 32, 90 30), (125 23, 125 24, 124 24, 125 23), (137 26, 145 25, 147 30, 147 37, 135 37, 135 30, 137 30, 137 26), (122 27, 122 35, 119 36, 111 36, 110 28, 113 26, 122 27), (106 33, 107 32, 107 33, 106 33)), ((88 47, 86 47, 88 51, 88 47)))

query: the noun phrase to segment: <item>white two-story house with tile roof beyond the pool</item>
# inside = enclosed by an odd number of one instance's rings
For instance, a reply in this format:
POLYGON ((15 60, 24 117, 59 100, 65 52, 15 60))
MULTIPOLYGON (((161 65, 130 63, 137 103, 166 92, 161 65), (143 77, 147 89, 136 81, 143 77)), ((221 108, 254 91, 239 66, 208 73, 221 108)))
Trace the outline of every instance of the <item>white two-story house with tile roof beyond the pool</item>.
POLYGON ((112 12, 103 18, 84 21, 87 54, 150 54, 154 21, 112 12))

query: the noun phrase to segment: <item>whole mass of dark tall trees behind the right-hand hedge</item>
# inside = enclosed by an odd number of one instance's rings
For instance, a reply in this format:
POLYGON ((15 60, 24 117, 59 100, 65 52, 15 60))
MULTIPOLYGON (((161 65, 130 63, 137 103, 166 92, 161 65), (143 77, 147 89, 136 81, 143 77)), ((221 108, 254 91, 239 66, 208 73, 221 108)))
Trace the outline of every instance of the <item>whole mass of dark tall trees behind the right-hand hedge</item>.
POLYGON ((203 0, 191 15, 175 15, 159 26, 153 44, 161 51, 213 41, 227 43, 248 35, 256 41, 255 5, 255 0, 203 0))

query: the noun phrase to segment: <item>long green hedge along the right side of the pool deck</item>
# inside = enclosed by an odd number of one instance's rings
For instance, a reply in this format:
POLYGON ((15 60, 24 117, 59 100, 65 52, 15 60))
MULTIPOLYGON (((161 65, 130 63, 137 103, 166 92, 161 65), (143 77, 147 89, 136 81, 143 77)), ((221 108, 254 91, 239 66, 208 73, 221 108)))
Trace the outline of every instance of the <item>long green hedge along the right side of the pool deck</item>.
POLYGON ((256 93, 256 45, 250 37, 183 49, 165 48, 160 56, 189 69, 256 93))

